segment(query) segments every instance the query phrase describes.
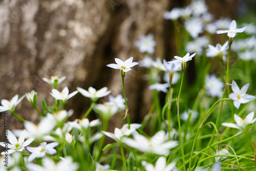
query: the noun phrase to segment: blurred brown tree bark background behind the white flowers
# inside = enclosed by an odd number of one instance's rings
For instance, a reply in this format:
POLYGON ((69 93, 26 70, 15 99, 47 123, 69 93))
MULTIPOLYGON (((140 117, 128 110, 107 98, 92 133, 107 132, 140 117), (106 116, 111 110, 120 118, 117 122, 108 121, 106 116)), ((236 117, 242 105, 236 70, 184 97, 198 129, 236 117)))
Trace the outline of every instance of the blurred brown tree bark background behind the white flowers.
MULTIPOLYGON (((122 94, 120 71, 106 65, 115 63, 115 57, 126 60, 133 56, 134 61, 142 60, 144 55, 134 41, 148 33, 157 41, 154 57, 168 61, 179 55, 174 29, 183 26, 175 27, 163 14, 190 3, 185 0, 0 1, 0 99, 9 100, 15 94, 21 97, 35 90, 39 110, 42 98, 52 105, 52 87, 42 81, 52 75, 66 76, 59 91, 66 86, 70 92, 76 87, 88 90, 92 86, 97 90, 108 87, 113 96, 122 94)), ((206 0, 205 3, 214 19, 246 16, 255 20, 255 1, 206 0)), ((139 123, 151 108, 152 94, 143 77, 145 69, 138 66, 132 69, 125 76, 125 90, 131 122, 139 123)), ((107 100, 105 97, 98 102, 107 100)), ((90 104, 90 99, 80 93, 69 99, 66 110, 74 109, 70 120, 80 118, 90 104)), ((15 111, 33 122, 39 117, 27 99, 15 111)), ((1 114, 1 125, 3 118, 1 114)), ((92 112, 89 118, 96 116, 92 112)), ((121 127, 118 115, 110 121, 108 131, 113 132, 115 127, 121 127)), ((2 129, 3 126, 1 132, 2 129)), ((23 129, 23 123, 10 114, 9 129, 23 129)))

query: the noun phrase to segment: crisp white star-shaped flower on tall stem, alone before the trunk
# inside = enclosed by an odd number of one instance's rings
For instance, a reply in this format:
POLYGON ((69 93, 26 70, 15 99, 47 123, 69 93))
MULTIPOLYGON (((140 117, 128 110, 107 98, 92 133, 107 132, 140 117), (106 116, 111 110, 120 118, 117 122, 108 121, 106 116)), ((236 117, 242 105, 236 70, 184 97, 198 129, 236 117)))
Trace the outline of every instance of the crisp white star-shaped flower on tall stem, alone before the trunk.
POLYGON ((115 63, 110 63, 106 65, 107 67, 114 68, 114 69, 119 69, 122 70, 123 72, 127 72, 132 70, 131 68, 138 65, 138 62, 133 62, 133 57, 130 57, 129 59, 122 61, 121 59, 115 58, 115 63))

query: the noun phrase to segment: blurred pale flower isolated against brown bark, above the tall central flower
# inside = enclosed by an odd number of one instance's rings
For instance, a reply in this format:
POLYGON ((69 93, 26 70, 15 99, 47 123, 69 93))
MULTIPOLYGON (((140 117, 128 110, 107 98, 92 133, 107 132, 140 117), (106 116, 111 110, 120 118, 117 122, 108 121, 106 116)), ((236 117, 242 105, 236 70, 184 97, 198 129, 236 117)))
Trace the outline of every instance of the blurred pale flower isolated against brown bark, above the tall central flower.
POLYGON ((134 45, 139 48, 141 53, 150 53, 153 54, 155 52, 155 46, 157 45, 157 42, 154 41, 154 35, 148 34, 146 36, 141 35, 140 40, 135 41, 134 45))

